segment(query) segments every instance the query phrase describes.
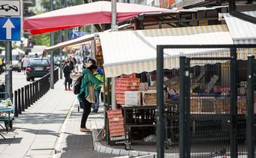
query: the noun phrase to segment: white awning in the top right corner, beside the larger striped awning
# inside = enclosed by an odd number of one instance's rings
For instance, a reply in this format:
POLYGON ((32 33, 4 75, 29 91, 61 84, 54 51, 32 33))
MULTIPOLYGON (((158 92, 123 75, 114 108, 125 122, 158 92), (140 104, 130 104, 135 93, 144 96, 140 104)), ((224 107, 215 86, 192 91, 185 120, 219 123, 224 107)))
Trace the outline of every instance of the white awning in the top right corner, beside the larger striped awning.
MULTIPOLYGON (((243 13, 256 18, 256 11, 243 13)), ((256 25, 240 18, 235 18, 228 13, 223 15, 234 44, 256 44, 256 25)))

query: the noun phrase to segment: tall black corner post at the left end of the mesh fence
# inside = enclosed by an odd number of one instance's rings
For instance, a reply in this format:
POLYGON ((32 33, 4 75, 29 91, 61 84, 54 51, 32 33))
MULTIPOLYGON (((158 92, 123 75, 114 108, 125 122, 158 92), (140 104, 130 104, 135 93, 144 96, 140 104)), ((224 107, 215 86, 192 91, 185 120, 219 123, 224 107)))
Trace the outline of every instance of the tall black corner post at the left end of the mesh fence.
POLYGON ((163 48, 157 45, 157 158, 164 157, 163 48))

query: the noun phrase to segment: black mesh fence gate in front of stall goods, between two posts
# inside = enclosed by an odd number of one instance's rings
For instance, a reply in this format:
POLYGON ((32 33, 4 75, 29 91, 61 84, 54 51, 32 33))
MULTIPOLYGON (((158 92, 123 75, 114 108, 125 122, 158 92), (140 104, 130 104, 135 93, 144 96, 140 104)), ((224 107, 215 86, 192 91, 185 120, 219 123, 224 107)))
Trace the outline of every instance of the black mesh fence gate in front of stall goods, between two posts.
POLYGON ((182 157, 237 153, 237 137, 245 133, 237 131, 237 86, 232 85, 237 83, 236 70, 235 54, 233 58, 180 58, 180 100, 184 100, 180 130, 187 133, 184 140, 180 137, 187 144, 182 157))

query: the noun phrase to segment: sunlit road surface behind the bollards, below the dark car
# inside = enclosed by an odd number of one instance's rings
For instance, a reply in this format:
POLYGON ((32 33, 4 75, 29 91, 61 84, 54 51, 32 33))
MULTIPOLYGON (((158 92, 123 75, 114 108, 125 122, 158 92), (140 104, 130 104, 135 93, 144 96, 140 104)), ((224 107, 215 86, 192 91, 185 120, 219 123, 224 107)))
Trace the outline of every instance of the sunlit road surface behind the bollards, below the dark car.
MULTIPOLYGON (((35 78, 39 79, 39 78, 35 78)), ((5 72, 0 75, 0 84, 5 83, 5 72)), ((12 71, 12 91, 18 90, 32 81, 26 81, 25 74, 23 72, 12 71)))

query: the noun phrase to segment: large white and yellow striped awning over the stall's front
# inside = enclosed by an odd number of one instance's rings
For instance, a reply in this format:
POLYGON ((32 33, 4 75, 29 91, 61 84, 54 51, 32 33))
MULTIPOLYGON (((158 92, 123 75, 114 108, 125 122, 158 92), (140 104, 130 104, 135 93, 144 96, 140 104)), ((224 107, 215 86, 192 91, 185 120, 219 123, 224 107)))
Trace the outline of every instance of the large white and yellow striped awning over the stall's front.
MULTIPOLYGON (((99 33, 106 77, 157 69, 157 44, 233 44, 227 25, 165 28, 99 33)), ((164 67, 180 66, 179 57, 216 57, 229 54, 224 49, 164 50, 164 67)))

